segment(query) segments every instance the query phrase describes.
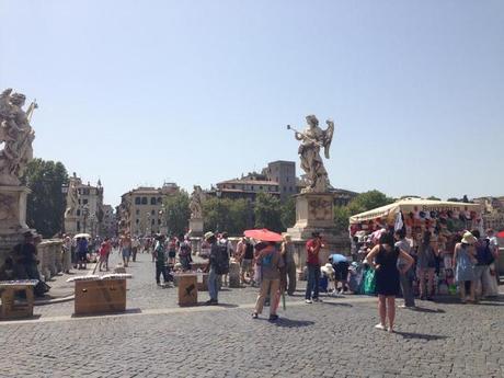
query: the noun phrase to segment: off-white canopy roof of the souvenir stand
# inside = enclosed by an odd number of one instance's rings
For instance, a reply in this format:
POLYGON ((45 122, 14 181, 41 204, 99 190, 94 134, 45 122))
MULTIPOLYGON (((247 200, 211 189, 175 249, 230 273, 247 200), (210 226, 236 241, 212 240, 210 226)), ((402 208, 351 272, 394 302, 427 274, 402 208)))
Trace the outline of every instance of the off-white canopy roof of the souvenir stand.
POLYGON ((387 218, 399 211, 403 214, 411 211, 477 211, 481 213, 481 205, 466 204, 459 202, 433 201, 422 198, 404 198, 393 204, 381 206, 369 211, 360 213, 350 217, 350 224, 360 224, 363 221, 377 218, 387 218))

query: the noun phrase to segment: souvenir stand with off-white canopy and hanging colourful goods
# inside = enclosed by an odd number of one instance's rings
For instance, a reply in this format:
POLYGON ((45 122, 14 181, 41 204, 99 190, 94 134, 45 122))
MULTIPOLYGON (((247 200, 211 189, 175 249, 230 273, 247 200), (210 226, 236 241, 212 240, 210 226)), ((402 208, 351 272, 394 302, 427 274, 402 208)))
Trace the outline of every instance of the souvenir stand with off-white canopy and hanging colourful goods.
MULTIPOLYGON (((483 234, 482 208, 478 204, 404 198, 393 204, 357 214, 350 218, 350 233, 358 245, 377 242, 382 229, 405 229, 414 251, 425 231, 429 231, 438 250, 436 293, 454 294, 453 255, 465 230, 483 234), (356 238, 355 238, 356 237, 356 238)), ((358 249, 357 245, 357 249, 358 249)))

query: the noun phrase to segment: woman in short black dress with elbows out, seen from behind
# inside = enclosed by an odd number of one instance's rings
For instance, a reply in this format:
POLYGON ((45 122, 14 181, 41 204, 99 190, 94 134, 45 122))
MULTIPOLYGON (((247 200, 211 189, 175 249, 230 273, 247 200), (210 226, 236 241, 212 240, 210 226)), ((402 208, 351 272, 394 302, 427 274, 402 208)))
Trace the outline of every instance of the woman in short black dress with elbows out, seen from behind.
POLYGON ((404 274, 413 264, 414 260, 405 251, 394 247, 393 233, 385 232, 380 237, 380 243, 367 255, 367 261, 376 270, 376 293, 378 294, 378 312, 380 323, 375 328, 386 330, 387 316, 389 318, 389 332, 393 332, 396 319, 396 296, 399 294, 399 273, 404 274), (405 265, 398 268, 398 259, 405 265))

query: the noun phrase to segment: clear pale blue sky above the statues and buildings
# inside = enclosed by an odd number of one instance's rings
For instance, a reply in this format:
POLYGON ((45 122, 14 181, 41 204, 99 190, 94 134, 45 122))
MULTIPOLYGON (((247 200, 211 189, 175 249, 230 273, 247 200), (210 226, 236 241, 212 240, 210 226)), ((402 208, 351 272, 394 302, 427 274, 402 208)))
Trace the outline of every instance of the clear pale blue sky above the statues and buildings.
MULTIPOLYGON (((35 156, 105 201, 298 162, 336 122, 336 187, 504 195, 503 1, 0 1, 0 88, 37 99, 35 156)), ((298 165, 298 173, 299 165, 298 165)))

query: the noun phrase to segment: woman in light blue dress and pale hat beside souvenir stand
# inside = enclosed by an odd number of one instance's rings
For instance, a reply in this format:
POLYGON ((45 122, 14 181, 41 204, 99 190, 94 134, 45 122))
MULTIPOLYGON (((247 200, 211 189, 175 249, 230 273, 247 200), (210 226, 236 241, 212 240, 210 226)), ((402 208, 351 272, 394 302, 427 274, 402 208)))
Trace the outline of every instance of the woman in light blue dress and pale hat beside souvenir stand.
POLYGON ((474 236, 466 231, 460 243, 455 245, 454 262, 455 262, 455 282, 459 285, 460 301, 466 303, 466 284, 470 285, 469 300, 474 301, 474 236))

